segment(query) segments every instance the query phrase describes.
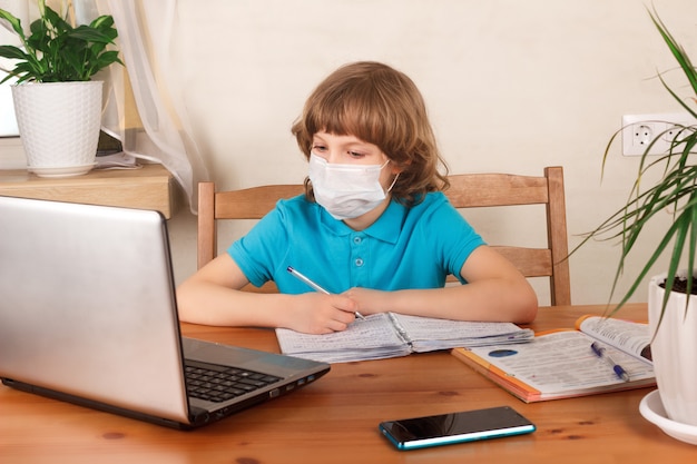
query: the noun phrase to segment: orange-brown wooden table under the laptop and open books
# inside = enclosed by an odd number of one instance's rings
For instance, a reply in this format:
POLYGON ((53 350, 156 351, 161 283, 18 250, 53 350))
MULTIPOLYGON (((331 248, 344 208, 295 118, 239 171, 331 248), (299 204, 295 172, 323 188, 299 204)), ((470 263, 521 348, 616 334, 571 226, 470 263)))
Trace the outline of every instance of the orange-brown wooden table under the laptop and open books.
MULTIPOLYGON (((541 308, 536 330, 600 306, 541 308)), ((646 305, 624 317, 646 319, 646 305)), ((273 330, 184 325, 189 336, 278 351, 273 330)), ((99 375, 96 373, 96 375, 99 375)), ((697 447, 639 414, 651 388, 524 404, 446 352, 333 365, 317 383, 194 432, 179 432, 0 386, 2 463, 688 463, 697 447), (396 451, 383 419, 510 405, 531 435, 396 451)))

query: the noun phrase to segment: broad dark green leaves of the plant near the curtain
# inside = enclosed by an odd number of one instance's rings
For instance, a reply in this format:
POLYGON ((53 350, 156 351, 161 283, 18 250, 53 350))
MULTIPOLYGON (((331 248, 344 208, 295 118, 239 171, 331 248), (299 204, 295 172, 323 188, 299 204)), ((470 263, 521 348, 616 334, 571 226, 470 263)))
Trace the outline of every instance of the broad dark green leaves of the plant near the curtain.
POLYGON ((0 9, 0 19, 9 22, 21 41, 21 48, 0 46, 0 57, 17 61, 0 83, 11 78, 18 83, 86 81, 111 63, 121 63, 118 51, 107 49, 118 36, 111 16, 72 27, 46 0, 38 3, 41 16, 31 23, 29 36, 18 18, 0 9))

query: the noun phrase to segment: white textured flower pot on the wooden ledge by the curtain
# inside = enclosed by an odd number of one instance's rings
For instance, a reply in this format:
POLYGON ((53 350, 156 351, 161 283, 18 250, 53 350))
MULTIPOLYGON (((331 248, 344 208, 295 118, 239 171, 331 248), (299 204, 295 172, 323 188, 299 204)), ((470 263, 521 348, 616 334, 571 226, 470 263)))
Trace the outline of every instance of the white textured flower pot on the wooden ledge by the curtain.
POLYGON ((69 177, 95 166, 101 127, 101 81, 12 86, 27 167, 41 177, 69 177))

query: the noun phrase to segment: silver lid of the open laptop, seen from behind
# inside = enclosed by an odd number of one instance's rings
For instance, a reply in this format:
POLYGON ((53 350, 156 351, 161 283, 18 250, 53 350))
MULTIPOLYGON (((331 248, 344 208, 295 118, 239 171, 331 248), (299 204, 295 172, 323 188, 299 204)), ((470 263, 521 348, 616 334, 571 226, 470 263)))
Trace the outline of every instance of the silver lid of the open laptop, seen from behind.
POLYGON ((0 375, 187 419, 159 213, 0 197, 0 375))

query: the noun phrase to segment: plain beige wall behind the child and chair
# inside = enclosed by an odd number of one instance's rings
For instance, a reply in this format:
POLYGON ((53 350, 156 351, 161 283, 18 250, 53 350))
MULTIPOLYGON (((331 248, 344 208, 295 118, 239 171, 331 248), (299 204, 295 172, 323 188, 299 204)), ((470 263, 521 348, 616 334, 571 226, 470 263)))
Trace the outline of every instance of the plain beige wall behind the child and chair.
MULTIPOLYGON (((381 60, 405 71, 429 105, 452 172, 565 168, 571 246, 621 206, 636 158, 606 144, 624 113, 677 109, 657 79, 674 68, 640 0, 180 0, 181 78, 195 138, 220 188, 300 182, 289 127, 337 66, 381 60), (205 7, 204 7, 205 4, 205 7)), ((697 2, 654 0, 697 53, 697 2)), ((680 89, 687 95, 687 88, 680 89)), ((480 217, 490 241, 528 239, 540 216, 480 217)), ((666 216, 668 219, 668 216, 666 216)), ((232 230, 238 235, 237 230, 232 230)), ((195 269, 195 218, 171 221, 178 280, 195 269)), ((227 245, 233 236, 223 236, 227 245)), ((655 237, 654 239, 657 239, 655 237)), ((617 247, 571 257, 575 303, 605 303, 617 247)), ((648 251, 644 248, 641 256, 648 251)), ((640 260, 640 259, 639 259, 640 260)), ((636 268, 636 261, 629 269, 636 268)), ((662 266, 658 266, 660 270, 662 266)), ((646 300, 646 292, 635 298, 646 300)), ((542 303, 547 296, 542 295, 542 303)))

